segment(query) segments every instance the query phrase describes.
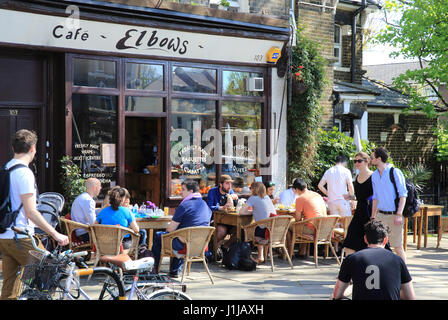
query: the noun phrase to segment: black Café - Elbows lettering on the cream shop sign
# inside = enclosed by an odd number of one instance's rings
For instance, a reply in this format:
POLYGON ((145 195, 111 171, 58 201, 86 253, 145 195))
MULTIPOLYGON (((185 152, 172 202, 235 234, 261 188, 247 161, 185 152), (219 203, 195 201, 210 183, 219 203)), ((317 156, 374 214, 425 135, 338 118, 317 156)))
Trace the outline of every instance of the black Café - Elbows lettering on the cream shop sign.
MULTIPOLYGON (((63 25, 57 25, 53 28, 53 37, 56 39, 64 38, 66 40, 87 41, 89 32, 82 28, 69 30, 63 25)), ((107 39, 104 35, 101 38, 107 39)), ((163 37, 157 30, 148 32, 146 30, 139 31, 137 29, 129 29, 124 36, 118 40, 115 48, 118 50, 126 49, 143 49, 143 50, 163 50, 165 52, 177 52, 185 54, 188 49, 188 40, 181 40, 179 37, 163 37)))

